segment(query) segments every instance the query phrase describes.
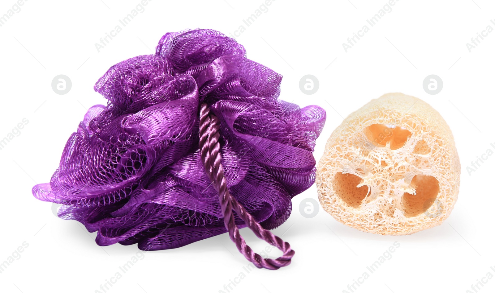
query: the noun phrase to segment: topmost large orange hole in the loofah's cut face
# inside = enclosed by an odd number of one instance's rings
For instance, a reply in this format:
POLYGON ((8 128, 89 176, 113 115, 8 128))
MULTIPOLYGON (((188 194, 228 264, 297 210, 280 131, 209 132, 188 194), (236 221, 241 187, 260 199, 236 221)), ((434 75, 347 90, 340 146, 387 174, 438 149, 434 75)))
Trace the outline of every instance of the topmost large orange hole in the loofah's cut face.
POLYGON ((390 143, 390 149, 399 149, 404 146, 411 132, 403 127, 395 125, 372 124, 364 129, 366 137, 377 147, 386 147, 390 143))

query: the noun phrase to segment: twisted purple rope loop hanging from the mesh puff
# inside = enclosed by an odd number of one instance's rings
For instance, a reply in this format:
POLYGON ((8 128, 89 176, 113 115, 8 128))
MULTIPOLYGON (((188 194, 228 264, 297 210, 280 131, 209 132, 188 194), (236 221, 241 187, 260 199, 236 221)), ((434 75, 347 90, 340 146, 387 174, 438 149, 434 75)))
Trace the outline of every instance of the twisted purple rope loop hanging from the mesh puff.
POLYGON ((201 160, 204 163, 204 168, 210 180, 213 182, 215 189, 218 191, 220 205, 225 227, 229 231, 229 236, 237 246, 239 252, 246 256, 247 260, 252 262, 258 268, 267 268, 271 270, 279 269, 280 267, 289 265, 291 258, 294 256, 294 250, 288 242, 283 241, 280 237, 275 236, 272 232, 264 229, 254 220, 254 218, 246 211, 246 209, 230 194, 227 188, 227 181, 223 174, 222 155, 220 154, 220 121, 217 116, 210 112, 206 104, 201 104, 199 109, 199 148, 201 150, 201 160), (234 219, 232 210, 237 212, 237 215, 244 220, 249 229, 254 234, 264 241, 276 246, 284 254, 277 259, 262 258, 246 244, 244 238, 239 232, 234 219))

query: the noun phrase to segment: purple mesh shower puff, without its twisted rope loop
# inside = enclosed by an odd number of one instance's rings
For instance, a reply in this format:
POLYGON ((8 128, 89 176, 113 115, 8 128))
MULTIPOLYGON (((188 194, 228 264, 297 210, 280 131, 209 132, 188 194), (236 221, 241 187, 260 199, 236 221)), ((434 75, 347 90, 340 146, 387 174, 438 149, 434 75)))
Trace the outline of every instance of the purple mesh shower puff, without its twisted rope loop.
POLYGON ((220 119, 231 194, 264 228, 282 224, 292 197, 314 183, 325 111, 278 100, 282 75, 245 54, 233 38, 191 30, 167 33, 155 55, 110 67, 95 85, 107 105, 88 110, 34 196, 98 231, 99 245, 160 250, 226 232, 198 148, 206 103, 220 119))

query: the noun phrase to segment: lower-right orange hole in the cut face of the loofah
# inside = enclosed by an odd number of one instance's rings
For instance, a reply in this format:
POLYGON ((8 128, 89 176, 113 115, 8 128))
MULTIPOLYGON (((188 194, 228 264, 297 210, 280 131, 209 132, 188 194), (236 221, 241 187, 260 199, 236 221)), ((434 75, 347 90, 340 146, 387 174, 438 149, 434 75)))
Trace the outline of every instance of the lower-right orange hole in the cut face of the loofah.
POLYGON ((416 175, 411 185, 416 190, 416 195, 405 192, 402 197, 406 217, 415 217, 426 212, 435 202, 439 192, 438 180, 433 176, 416 175))

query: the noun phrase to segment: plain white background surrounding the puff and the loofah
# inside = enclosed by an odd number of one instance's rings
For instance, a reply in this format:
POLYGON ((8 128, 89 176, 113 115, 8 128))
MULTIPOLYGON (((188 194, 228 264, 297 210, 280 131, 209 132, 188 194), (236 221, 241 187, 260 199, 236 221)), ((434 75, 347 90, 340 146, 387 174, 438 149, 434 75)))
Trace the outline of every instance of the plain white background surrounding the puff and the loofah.
MULTIPOLYGON (((495 156, 470 175, 466 170, 495 144, 495 32, 471 52, 466 47, 488 25, 495 29, 490 22, 495 4, 474 1, 397 1, 347 53, 342 43, 387 0, 276 0, 249 27, 243 20, 264 0, 152 0, 100 52, 95 43, 139 0, 26 1, 0 27, 0 139, 23 118, 29 120, 0 150, 0 262, 24 241, 29 247, 0 274, 0 291, 97 292, 119 266, 136 256, 135 245, 99 247, 96 233, 88 233, 76 221, 56 218, 51 204, 35 199, 31 188, 49 182, 86 109, 105 104, 93 85, 111 65, 152 53, 166 32, 199 27, 230 35, 241 25, 246 31, 237 40, 247 48, 247 57, 283 74, 281 99, 327 110, 314 152, 317 160, 343 117, 384 93, 416 96, 438 110, 452 129, 462 164, 455 209, 442 225, 413 235, 368 234, 344 226, 321 208, 316 217, 303 217, 299 204, 317 198, 313 185, 294 198, 291 218, 274 230, 296 251, 290 266, 246 273, 247 260, 223 234, 148 252, 107 292, 216 293, 236 280, 240 282, 230 292, 340 293, 395 241, 400 247, 392 258, 355 292, 463 293, 488 272, 495 275, 490 269, 495 266, 495 156), (58 74, 72 80, 65 95, 51 88, 58 74), (299 89, 305 74, 319 80, 313 95, 299 89), (437 95, 423 89, 423 79, 430 74, 443 79, 437 95), (234 279, 240 272, 246 277, 234 279)), ((0 15, 14 3, 2 0, 0 15)), ((251 247, 263 250, 264 242, 247 229, 241 232, 251 247)), ((274 250, 270 256, 279 253, 274 250)), ((494 290, 495 278, 478 292, 494 290)))

